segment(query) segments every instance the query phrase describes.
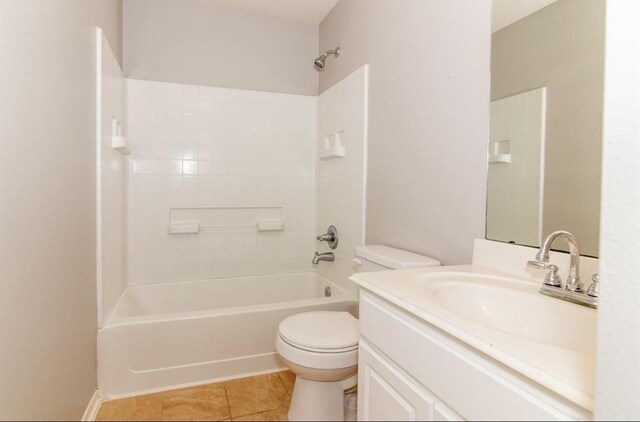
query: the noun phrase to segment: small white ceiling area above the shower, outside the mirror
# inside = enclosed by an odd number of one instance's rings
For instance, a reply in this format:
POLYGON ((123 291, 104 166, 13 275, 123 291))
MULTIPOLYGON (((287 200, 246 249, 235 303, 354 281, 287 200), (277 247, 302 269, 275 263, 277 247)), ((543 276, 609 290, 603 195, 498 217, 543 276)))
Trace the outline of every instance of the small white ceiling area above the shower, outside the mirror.
POLYGON ((338 0, 206 0, 229 9, 238 9, 310 25, 322 22, 338 0))

